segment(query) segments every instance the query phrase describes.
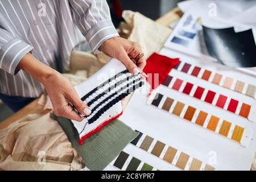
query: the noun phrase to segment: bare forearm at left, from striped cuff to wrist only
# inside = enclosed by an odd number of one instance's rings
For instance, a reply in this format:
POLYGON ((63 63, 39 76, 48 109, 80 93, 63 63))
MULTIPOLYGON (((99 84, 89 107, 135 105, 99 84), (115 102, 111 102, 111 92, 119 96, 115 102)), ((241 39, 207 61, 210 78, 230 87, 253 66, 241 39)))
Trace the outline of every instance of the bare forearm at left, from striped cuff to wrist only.
POLYGON ((19 62, 18 68, 30 74, 39 82, 44 84, 47 79, 53 75, 58 74, 55 69, 48 67, 46 64, 41 63, 31 53, 27 53, 19 62))

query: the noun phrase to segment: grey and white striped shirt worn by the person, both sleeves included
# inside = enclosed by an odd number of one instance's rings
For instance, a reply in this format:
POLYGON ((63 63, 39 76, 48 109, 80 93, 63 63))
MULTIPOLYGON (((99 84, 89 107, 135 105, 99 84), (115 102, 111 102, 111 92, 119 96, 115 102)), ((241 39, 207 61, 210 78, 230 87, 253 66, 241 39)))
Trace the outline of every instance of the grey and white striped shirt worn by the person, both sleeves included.
POLYGON ((119 36, 105 0, 0 0, 0 93, 38 97, 40 82, 17 65, 30 52, 60 72, 69 70, 72 49, 93 52, 119 36))

